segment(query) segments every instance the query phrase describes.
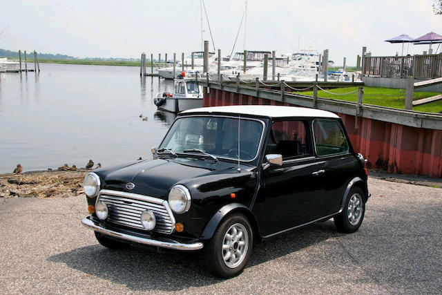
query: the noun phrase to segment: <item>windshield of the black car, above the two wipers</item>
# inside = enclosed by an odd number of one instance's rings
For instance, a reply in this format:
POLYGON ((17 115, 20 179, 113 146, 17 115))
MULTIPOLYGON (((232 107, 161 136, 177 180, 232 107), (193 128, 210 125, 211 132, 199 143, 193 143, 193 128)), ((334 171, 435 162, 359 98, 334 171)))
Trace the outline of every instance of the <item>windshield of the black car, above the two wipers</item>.
POLYGON ((159 148, 175 153, 199 149, 221 158, 238 159, 238 122, 240 122, 240 160, 256 158, 263 124, 257 120, 231 117, 198 116, 178 118, 159 148))

